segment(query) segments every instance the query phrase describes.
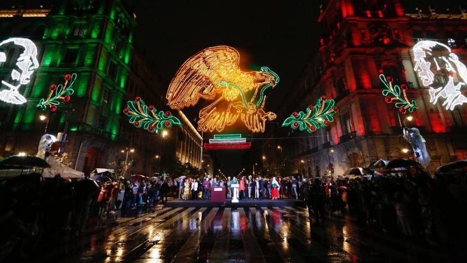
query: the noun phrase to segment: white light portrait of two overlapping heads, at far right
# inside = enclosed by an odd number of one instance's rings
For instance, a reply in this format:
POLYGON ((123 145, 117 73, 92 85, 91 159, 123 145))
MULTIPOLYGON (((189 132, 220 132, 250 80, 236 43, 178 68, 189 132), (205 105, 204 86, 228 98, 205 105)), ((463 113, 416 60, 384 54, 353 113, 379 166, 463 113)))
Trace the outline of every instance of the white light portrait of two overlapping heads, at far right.
POLYGON ((422 80, 422 85, 430 88, 432 104, 442 97, 446 99, 443 106, 452 111, 457 105, 467 102, 467 97, 460 91, 467 83, 467 67, 456 54, 451 53, 449 46, 431 40, 420 41, 413 46, 413 60, 413 70, 422 80))

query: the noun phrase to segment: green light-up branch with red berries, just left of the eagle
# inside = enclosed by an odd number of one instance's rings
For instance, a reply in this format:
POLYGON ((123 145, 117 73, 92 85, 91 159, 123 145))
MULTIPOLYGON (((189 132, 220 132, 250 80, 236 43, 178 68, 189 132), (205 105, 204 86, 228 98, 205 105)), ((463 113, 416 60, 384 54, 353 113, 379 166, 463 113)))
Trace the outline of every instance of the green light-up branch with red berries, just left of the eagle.
POLYGON ((160 111, 157 113, 154 106, 146 106, 140 97, 136 97, 134 101, 128 101, 127 108, 123 110, 123 113, 130 117, 129 122, 133 126, 136 128, 143 127, 149 132, 156 132, 156 130, 162 130, 164 127, 171 128, 172 125, 181 126, 180 120, 171 112, 164 113, 160 111))

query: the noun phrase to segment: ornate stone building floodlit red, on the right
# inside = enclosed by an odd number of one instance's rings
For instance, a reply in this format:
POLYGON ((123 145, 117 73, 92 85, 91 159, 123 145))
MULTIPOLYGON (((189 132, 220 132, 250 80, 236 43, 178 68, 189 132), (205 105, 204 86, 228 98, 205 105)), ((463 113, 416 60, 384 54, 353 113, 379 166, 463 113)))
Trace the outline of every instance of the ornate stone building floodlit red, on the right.
MULTIPOLYGON (((304 111, 322 95, 334 98, 340 112, 328 128, 314 133, 269 131, 266 137, 287 139, 263 144, 263 155, 270 160, 266 166, 278 166, 281 157, 289 156, 305 175, 323 175, 329 163, 339 175, 380 158, 408 157, 411 147, 402 138, 404 125, 417 127, 426 139, 431 171, 467 158, 467 105, 448 111, 441 100, 431 104, 428 88, 413 70, 412 52, 415 43, 431 39, 448 45, 467 64, 467 13, 462 9, 466 4, 440 10, 410 5, 400 0, 329 0, 323 6, 319 51, 291 87, 294 94, 279 108, 278 119, 304 111), (380 74, 405 83, 409 100, 415 100, 419 109, 404 114, 394 103, 386 103, 380 74)), ((466 94, 465 89, 460 91, 466 94)))

